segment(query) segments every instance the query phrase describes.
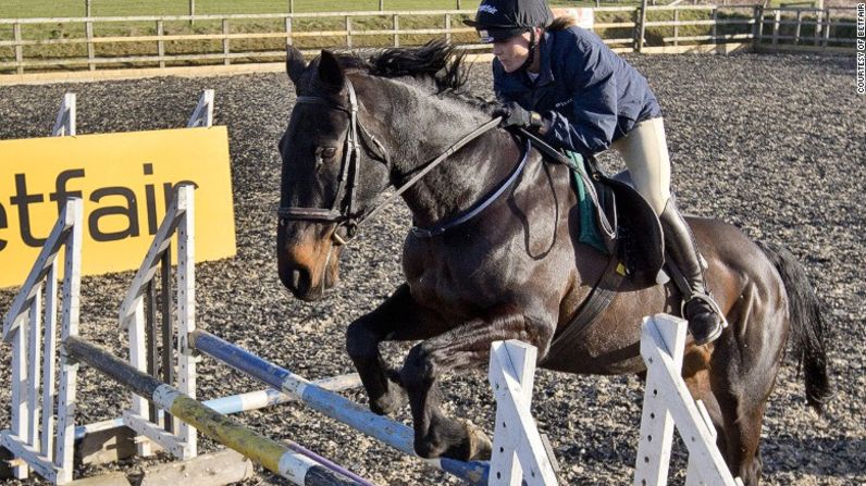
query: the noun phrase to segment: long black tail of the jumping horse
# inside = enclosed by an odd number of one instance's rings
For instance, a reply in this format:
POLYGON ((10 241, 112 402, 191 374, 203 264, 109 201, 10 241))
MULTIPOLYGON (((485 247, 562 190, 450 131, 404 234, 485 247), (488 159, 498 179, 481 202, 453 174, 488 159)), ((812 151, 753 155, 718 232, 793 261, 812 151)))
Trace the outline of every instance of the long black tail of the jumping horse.
POLYGON ((782 277, 788 292, 791 317, 791 340, 799 365, 803 365, 806 381, 806 402, 821 413, 831 394, 827 373, 827 322, 821 315, 818 296, 808 282, 805 269, 787 249, 758 241, 758 246, 782 277))

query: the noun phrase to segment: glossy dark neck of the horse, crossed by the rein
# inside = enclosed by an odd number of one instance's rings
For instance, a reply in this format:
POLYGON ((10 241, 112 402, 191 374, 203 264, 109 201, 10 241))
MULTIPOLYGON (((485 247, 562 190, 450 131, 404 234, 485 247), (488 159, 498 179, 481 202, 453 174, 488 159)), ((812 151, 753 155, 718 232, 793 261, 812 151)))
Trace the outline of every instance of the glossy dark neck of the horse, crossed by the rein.
MULTIPOLYGON (((397 185, 490 121, 460 101, 415 92, 412 87, 407 90, 415 97, 392 107, 392 136, 397 146, 392 182, 397 185)), ((418 225, 433 225, 481 199, 507 176, 519 155, 511 137, 493 129, 442 162, 406 191, 404 200, 418 225)))

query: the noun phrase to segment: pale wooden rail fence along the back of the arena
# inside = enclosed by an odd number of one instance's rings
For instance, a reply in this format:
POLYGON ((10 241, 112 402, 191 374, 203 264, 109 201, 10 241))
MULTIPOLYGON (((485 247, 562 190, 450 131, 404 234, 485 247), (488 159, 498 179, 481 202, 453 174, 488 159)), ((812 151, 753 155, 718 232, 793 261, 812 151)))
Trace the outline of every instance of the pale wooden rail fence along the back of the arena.
MULTIPOLYGON (((319 47, 347 49, 373 45, 381 47, 383 37, 389 39, 391 46, 397 47, 406 42, 407 36, 415 36, 409 38, 415 39, 412 40, 415 42, 421 38, 441 36, 461 43, 465 49, 487 52, 490 46, 478 43, 474 29, 463 26, 460 22, 460 18, 471 17, 474 13, 473 10, 424 10, 0 18, 0 35, 3 32, 12 34, 11 39, 0 37, 0 73, 24 74, 25 71, 59 68, 96 71, 131 65, 134 67, 231 65, 277 61, 284 57, 282 45, 299 42, 298 46, 305 53, 313 54, 318 52, 319 47), (426 21, 419 24, 419 17, 426 21), (371 18, 375 21, 370 21, 371 18), (210 30, 197 27, 166 33, 169 24, 187 23, 219 27, 210 30), (129 25, 135 25, 136 28, 126 28, 124 32, 124 26, 129 25), (152 26, 152 33, 147 33, 149 29, 144 27, 147 25, 152 26), (277 25, 280 27, 275 28, 277 25), (322 25, 327 26, 322 27, 322 25), (64 35, 50 38, 48 33, 58 26, 61 26, 64 35), (25 30, 30 33, 29 38, 25 38, 25 30), (102 35, 97 35, 98 32, 102 32, 102 35), (138 34, 139 32, 146 34, 138 34), (376 36, 379 40, 373 45, 366 40, 376 36), (455 36, 462 37, 457 40, 455 36), (317 45, 316 49, 309 43, 321 41, 323 38, 333 40, 326 46, 317 45), (53 52, 59 49, 64 49, 65 53, 53 52)), ((593 30, 619 52, 631 50, 654 52, 659 49, 673 52, 689 50, 685 49, 686 46, 696 43, 717 46, 728 42, 746 42, 764 47, 769 45, 780 48, 808 45, 821 50, 850 51, 856 41, 853 34, 853 7, 769 9, 758 4, 676 4, 647 7, 645 12, 640 7, 599 7, 593 9, 593 15, 610 17, 605 22, 598 22, 596 18, 593 30), (670 20, 663 20, 666 12, 670 12, 670 20), (688 12, 704 12, 705 18, 683 18, 688 12), (705 27, 704 32, 706 29, 709 32, 701 35, 684 32, 694 30, 695 27, 705 27), (838 34, 840 28, 846 27, 851 27, 850 36, 838 34), (667 28, 672 28, 672 36, 667 34, 659 36, 658 33, 668 32, 667 28), (727 32, 722 32, 726 29, 727 32), (652 42, 647 42, 650 35, 652 42)))

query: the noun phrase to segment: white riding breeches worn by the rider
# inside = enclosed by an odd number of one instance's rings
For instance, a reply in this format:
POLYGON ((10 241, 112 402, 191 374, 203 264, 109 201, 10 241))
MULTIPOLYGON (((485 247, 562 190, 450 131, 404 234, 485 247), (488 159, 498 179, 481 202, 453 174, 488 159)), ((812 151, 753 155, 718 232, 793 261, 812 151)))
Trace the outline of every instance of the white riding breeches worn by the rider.
POLYGON ((663 119, 634 125, 610 147, 626 159, 635 189, 660 215, 670 199, 670 157, 663 119))

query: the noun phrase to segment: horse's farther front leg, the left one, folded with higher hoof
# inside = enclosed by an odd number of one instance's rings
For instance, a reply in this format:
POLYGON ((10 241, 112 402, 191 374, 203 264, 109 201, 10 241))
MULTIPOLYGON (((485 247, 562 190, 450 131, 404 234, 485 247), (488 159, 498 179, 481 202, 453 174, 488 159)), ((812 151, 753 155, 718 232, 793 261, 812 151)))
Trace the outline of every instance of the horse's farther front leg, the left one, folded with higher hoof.
POLYGON ((419 325, 422 313, 417 310, 409 286, 404 284, 373 312, 349 324, 346 331, 346 350, 370 398, 370 410, 380 415, 399 409, 406 402, 406 394, 399 383, 399 371, 391 369, 382 359, 379 344, 432 336, 433 328, 419 325))

